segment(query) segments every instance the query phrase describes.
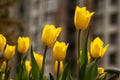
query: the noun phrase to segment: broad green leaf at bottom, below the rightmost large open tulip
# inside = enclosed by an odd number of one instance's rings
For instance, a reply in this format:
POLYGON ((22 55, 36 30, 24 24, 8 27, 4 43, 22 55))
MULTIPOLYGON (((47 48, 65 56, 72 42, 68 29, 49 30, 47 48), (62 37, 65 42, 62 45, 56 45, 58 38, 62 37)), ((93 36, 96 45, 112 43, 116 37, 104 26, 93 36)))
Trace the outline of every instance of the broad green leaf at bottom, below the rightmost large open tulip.
POLYGON ((86 68, 85 80, 96 80, 98 77, 97 60, 92 61, 86 68))

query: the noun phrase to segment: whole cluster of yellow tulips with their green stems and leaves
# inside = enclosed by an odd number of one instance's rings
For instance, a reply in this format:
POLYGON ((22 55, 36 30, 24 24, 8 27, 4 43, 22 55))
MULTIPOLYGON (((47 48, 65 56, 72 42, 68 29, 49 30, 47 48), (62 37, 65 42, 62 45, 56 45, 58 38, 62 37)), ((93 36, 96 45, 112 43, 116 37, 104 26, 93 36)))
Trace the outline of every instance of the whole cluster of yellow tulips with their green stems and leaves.
MULTIPOLYGON (((102 58, 109 45, 103 47, 104 42, 96 37, 90 43, 90 50, 87 49, 88 36, 90 28, 88 28, 90 20, 95 12, 89 12, 86 7, 80 8, 76 6, 74 24, 78 31, 78 80, 105 80, 104 69, 97 66, 97 62, 102 58), (88 28, 88 30, 87 30, 88 28), (80 50, 80 32, 87 30, 84 45, 80 50), (92 58, 92 60, 91 60, 92 58), (100 77, 102 75, 102 77, 100 77)), ((44 55, 36 53, 31 47, 31 59, 27 60, 27 55, 21 60, 15 80, 46 80, 44 75, 44 67, 46 53, 49 47, 53 46, 53 58, 55 60, 56 80, 71 80, 71 71, 69 62, 63 66, 63 60, 66 57, 69 43, 58 41, 57 38, 62 31, 61 27, 56 28, 55 25, 46 24, 42 32, 42 43, 45 46, 44 55), (61 74, 61 76, 60 76, 61 74)), ((30 47, 29 37, 19 37, 17 43, 17 51, 20 55, 25 55, 30 47)), ((10 70, 8 61, 15 55, 16 46, 9 45, 6 38, 0 34, 0 51, 3 51, 5 61, 0 66, 0 80, 10 80, 10 70)), ((69 53, 68 53, 69 54, 69 53)), ((50 73, 50 80, 54 80, 50 73)))

